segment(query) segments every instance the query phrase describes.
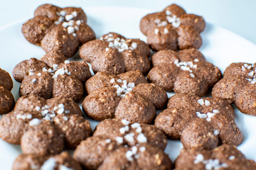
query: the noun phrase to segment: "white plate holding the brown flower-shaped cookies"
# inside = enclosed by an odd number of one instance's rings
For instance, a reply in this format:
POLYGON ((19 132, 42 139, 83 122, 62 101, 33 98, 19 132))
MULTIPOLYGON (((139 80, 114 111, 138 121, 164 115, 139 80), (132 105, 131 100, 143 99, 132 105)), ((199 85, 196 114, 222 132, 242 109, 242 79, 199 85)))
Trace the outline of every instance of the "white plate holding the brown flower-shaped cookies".
MULTIPOLYGON (((117 7, 83 7, 88 16, 88 25, 95 30, 97 37, 114 31, 124 35, 127 38, 141 38, 146 40, 145 36, 139 30, 139 21, 149 11, 143 8, 117 8, 117 7)), ((31 11, 32 13, 33 11, 31 11)), ((0 68, 5 69, 11 74, 15 65, 22 60, 31 57, 41 58, 45 52, 41 47, 32 45, 23 38, 21 26, 26 20, 18 21, 4 28, 0 28, 0 49, 1 62, 0 68)), ((201 52, 209 62, 218 66, 221 71, 232 62, 255 62, 256 46, 228 30, 207 24, 206 30, 201 34, 203 37, 203 46, 201 52)), ((14 80, 14 89, 12 93, 16 100, 18 99, 18 84, 14 80)), ((171 93, 169 93, 171 96, 171 93)), ((235 106, 234 106, 235 107, 235 106)), ((256 161, 256 117, 244 115, 235 108, 235 120, 238 124, 244 140, 238 147, 248 159, 256 161)), ((92 128, 97 125, 96 121, 90 121, 92 128)), ((169 154, 172 161, 178 156, 182 148, 181 142, 169 140, 166 153, 169 154)), ((21 148, 16 145, 10 145, 0 139, 0 164, 1 169, 11 169, 14 159, 21 154, 21 148)))

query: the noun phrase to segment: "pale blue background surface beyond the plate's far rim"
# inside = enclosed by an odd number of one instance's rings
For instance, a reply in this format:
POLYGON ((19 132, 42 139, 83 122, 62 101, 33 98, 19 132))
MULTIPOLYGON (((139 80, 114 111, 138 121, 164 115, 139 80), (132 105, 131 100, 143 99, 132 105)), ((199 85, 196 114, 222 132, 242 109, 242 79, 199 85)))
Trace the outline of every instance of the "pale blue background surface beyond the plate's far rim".
POLYGON ((160 11, 169 4, 176 3, 183 6, 188 13, 201 15, 208 23, 231 30, 256 44, 255 0, 1 0, 0 2, 0 27, 23 18, 32 18, 36 7, 44 3, 52 3, 60 7, 133 6, 149 8, 153 11, 160 11))

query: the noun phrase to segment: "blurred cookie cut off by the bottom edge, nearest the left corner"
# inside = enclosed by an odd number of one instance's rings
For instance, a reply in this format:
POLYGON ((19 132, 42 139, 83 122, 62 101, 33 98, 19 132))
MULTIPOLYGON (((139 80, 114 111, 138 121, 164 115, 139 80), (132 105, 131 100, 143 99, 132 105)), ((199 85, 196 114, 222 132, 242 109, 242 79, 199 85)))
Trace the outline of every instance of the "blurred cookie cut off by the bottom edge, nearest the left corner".
POLYGON ((71 157, 68 152, 62 152, 53 156, 38 154, 21 154, 13 164, 13 170, 82 170, 80 164, 71 157))

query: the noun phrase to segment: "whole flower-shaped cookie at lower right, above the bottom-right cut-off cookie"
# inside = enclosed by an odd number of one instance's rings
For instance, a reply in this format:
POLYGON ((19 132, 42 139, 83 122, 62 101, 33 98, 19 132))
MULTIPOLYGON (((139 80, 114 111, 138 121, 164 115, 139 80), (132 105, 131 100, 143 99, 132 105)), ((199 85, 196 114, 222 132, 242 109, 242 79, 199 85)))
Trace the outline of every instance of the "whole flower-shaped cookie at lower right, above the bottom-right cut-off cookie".
POLYGON ((240 145, 242 132, 232 106, 221 98, 175 94, 155 120, 156 128, 185 148, 213 149, 221 144, 240 145))

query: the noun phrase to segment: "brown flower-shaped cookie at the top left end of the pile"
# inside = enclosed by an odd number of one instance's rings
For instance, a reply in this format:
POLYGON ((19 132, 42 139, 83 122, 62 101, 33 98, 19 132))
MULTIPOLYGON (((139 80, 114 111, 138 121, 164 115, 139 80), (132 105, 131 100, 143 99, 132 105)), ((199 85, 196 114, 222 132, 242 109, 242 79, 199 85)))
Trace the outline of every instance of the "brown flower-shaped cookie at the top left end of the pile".
POLYGON ((95 39, 86 21, 82 8, 43 4, 36 8, 34 18, 23 24, 22 33, 28 42, 41 45, 46 52, 55 50, 72 57, 80 44, 95 39))

